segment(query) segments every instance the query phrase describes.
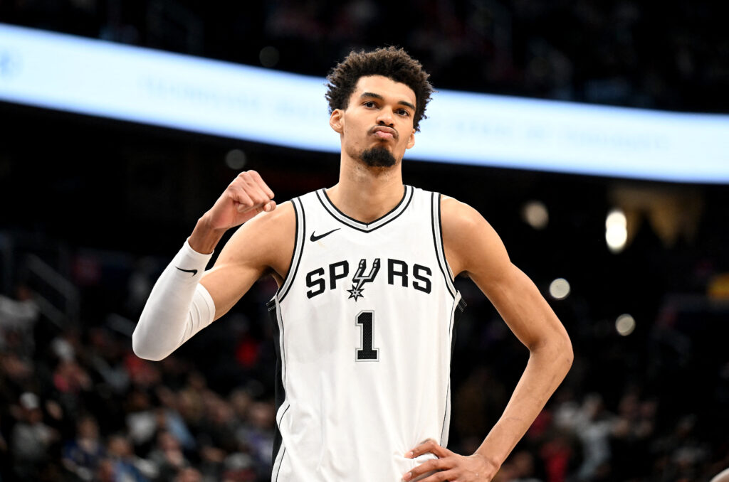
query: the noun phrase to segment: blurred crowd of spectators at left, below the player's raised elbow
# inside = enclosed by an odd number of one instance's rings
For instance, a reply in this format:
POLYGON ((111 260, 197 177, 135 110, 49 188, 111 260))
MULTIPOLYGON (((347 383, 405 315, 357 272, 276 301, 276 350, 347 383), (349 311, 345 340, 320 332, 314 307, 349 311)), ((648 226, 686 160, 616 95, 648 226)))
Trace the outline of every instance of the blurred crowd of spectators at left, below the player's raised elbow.
MULTIPOLYGON (((31 298, 4 297, 0 325, 1 481, 267 480, 274 408, 260 384, 212 390, 194 360, 146 362, 128 336, 59 328, 31 298)), ((236 348, 230 365, 252 362, 236 348)))

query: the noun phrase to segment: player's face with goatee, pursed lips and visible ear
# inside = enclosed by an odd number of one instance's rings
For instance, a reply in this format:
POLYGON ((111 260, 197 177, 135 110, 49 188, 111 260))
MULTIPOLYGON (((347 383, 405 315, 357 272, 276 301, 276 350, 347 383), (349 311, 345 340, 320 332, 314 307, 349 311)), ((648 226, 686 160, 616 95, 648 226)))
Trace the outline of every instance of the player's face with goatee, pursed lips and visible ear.
POLYGON ((415 92, 407 85, 385 76, 361 77, 347 108, 332 112, 330 125, 349 157, 390 167, 415 145, 415 106, 415 92))

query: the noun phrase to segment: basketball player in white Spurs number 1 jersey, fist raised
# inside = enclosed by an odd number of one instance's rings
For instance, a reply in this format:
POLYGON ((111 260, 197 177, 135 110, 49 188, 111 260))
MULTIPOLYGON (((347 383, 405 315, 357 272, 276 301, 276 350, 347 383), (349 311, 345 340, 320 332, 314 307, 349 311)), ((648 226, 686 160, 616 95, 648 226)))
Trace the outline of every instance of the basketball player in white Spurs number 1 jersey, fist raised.
POLYGON ((480 214, 403 185, 427 78, 394 47, 348 55, 328 77, 339 182, 277 207, 260 175, 238 175, 160 276, 134 332, 136 354, 160 360, 257 279, 276 279, 272 481, 490 481, 572 363, 563 326, 480 214), (445 448, 459 274, 530 352, 503 416, 469 456, 445 448))

